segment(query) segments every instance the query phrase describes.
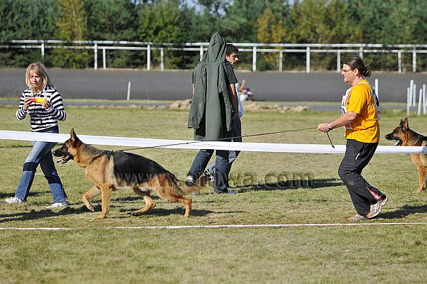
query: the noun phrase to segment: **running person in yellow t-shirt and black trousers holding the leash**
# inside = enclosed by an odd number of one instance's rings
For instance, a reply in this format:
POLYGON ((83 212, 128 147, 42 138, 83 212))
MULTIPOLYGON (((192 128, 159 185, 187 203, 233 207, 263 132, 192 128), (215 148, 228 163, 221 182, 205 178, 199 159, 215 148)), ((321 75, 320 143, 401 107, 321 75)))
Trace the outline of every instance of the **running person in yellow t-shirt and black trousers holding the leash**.
POLYGON ((352 86, 342 97, 342 115, 329 124, 319 124, 317 129, 328 132, 344 126, 347 148, 338 174, 357 211, 356 215, 348 219, 371 219, 379 214, 387 202, 386 195, 369 185, 361 175, 378 146, 381 109, 374 89, 364 79, 371 76, 371 70, 365 66, 362 58, 352 56, 344 60, 341 75, 344 76, 344 82, 352 86))

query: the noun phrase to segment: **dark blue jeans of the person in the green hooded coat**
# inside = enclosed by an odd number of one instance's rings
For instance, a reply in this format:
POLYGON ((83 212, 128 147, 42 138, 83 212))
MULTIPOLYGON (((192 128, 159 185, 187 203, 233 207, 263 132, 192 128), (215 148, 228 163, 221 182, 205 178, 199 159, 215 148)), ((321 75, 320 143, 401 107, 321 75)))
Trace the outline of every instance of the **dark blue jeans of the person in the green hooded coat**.
MULTIPOLYGON (((214 154, 213 149, 201 150, 197 153, 194 158, 193 165, 189 170, 188 175, 192 175, 194 178, 199 178, 204 173, 206 165, 211 160, 214 154)), ((227 193, 228 192, 228 151, 216 150, 215 160, 215 187, 216 193, 227 193)))

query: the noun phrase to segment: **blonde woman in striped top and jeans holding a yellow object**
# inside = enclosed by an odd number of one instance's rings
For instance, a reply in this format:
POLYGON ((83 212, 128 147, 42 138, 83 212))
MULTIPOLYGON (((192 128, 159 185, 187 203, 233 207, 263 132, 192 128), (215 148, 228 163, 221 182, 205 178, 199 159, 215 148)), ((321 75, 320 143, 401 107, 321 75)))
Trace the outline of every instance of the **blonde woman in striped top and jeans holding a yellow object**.
MULTIPOLYGON (((58 120, 65 121, 67 114, 62 97, 53 87, 46 67, 41 62, 31 63, 26 69, 25 79, 29 88, 21 94, 16 118, 22 120, 29 114, 31 131, 58 133, 58 120)), ((7 198, 7 203, 26 201, 36 168, 40 164, 53 195, 53 204, 48 208, 68 206, 67 195, 53 163, 51 150, 55 145, 56 143, 52 142, 33 141, 33 149, 23 163, 23 172, 15 196, 7 198)))

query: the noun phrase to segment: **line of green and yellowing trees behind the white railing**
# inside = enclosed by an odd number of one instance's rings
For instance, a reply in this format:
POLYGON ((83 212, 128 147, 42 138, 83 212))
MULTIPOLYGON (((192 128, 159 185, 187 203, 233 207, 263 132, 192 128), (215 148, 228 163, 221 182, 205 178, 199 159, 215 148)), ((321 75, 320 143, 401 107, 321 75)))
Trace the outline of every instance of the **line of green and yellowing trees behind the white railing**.
MULTIPOLYGON (((0 41, 26 39, 209 42, 218 32, 233 43, 427 43, 425 0, 0 0, 0 41)), ((145 54, 109 50, 108 67, 143 67, 145 54)), ((241 68, 251 53, 241 53, 241 68)), ((418 55, 418 68, 427 58, 418 55)), ((160 62, 153 50, 152 65, 160 62)), ((366 54, 371 67, 396 70, 396 54, 366 54)), ((166 68, 192 68, 199 53, 165 50, 166 68)), ((6 49, 1 67, 41 60, 38 49, 6 49)), ((49 49, 50 67, 93 66, 93 50, 49 49)), ((286 54, 283 68, 304 68, 305 54, 286 54)), ((313 69, 336 69, 336 55, 312 54, 313 69)), ((277 70, 278 54, 258 55, 258 70, 277 70)), ((404 68, 411 70, 411 55, 404 68)), ((249 67, 248 67, 249 68, 249 67)))

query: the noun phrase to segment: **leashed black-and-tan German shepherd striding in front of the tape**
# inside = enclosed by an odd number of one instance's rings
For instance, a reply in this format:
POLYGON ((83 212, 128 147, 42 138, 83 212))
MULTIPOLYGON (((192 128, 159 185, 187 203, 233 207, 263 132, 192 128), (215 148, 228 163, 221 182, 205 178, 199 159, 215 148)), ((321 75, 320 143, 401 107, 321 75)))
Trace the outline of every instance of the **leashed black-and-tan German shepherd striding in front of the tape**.
POLYGON ((186 186, 154 160, 122 151, 97 149, 80 141, 74 129, 71 129, 71 137, 61 148, 53 151, 53 155, 62 157, 58 160, 60 163, 74 160, 78 166, 85 168, 86 176, 95 186, 83 195, 83 203, 95 212, 89 200, 101 193, 102 212, 98 219, 108 214, 112 190, 130 188, 145 201, 145 206, 132 212, 133 215, 142 214, 156 206, 150 197, 150 191, 154 190, 164 200, 184 204, 184 217, 189 217, 191 198, 182 195, 196 192, 208 182, 208 178, 203 175, 194 185, 186 186))

